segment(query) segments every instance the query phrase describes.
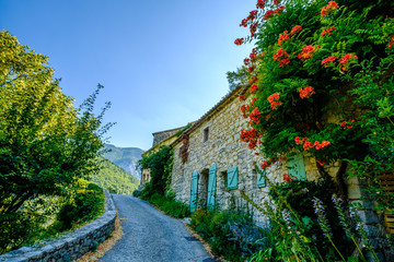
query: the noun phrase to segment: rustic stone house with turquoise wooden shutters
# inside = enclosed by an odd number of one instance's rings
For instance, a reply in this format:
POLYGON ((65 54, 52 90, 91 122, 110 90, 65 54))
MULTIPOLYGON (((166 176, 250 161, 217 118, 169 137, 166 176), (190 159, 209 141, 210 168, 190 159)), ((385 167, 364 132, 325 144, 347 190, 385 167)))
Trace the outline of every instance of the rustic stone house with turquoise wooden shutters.
MULTIPOLYGON (((241 130, 248 129, 247 119, 240 110, 244 103, 240 102, 240 95, 247 96, 247 88, 240 86, 233 90, 186 129, 182 136, 170 138, 171 141, 164 140, 162 143, 174 150, 171 189, 177 200, 190 205, 192 211, 196 210, 197 204, 217 204, 222 210, 248 209, 255 222, 264 225, 267 218, 241 198, 243 190, 255 203, 262 204, 268 200, 268 183, 256 170, 264 158, 240 141, 241 130)), ((324 166, 332 177, 337 175, 339 167, 339 163, 324 166)), ((320 177, 315 159, 302 154, 286 162, 279 160, 265 171, 274 183, 283 181, 283 174, 302 180, 320 177)), ((358 178, 345 182, 348 200, 361 202, 363 192, 358 178)), ((373 212, 373 203, 364 202, 363 205, 359 214, 369 230, 375 236, 384 235, 382 216, 373 212)))

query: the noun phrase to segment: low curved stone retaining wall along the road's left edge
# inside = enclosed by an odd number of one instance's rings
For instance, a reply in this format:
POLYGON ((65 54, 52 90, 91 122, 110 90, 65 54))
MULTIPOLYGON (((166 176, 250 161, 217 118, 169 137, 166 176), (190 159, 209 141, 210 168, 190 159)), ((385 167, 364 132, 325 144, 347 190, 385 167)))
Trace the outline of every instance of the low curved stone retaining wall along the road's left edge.
POLYGON ((108 190, 105 193, 105 213, 94 222, 65 234, 59 239, 49 241, 45 247, 23 247, 0 255, 0 261, 8 262, 69 262, 81 258, 84 253, 104 239, 115 229, 116 211, 108 190))

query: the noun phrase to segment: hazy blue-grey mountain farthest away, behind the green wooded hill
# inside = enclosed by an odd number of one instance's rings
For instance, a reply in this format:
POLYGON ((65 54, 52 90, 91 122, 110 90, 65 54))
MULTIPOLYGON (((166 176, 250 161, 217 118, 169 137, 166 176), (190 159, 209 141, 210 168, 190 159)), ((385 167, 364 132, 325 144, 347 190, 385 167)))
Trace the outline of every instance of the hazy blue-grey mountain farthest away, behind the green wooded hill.
POLYGON ((117 147, 112 144, 104 144, 109 152, 104 157, 115 165, 125 169, 128 174, 141 179, 141 171, 137 168, 138 160, 142 158, 144 152, 138 147, 117 147))

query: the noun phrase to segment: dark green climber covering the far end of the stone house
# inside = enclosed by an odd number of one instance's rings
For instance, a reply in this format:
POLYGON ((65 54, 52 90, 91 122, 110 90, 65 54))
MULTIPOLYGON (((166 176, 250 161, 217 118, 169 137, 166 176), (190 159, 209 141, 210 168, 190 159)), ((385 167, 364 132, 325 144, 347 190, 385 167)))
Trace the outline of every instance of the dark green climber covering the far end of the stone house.
POLYGON ((173 150, 170 146, 161 146, 158 152, 139 160, 142 169, 150 169, 151 180, 141 192, 142 199, 149 199, 153 194, 164 195, 171 183, 173 166, 173 150))

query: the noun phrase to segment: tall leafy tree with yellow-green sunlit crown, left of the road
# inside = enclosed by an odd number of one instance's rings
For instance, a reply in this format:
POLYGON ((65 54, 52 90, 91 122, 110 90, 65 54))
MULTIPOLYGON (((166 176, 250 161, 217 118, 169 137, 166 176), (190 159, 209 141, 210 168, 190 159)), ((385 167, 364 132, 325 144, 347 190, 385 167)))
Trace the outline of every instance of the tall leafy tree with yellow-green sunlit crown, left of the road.
POLYGON ((0 252, 26 243, 80 178, 97 170, 102 85, 80 106, 54 79, 48 58, 0 32, 0 252))

